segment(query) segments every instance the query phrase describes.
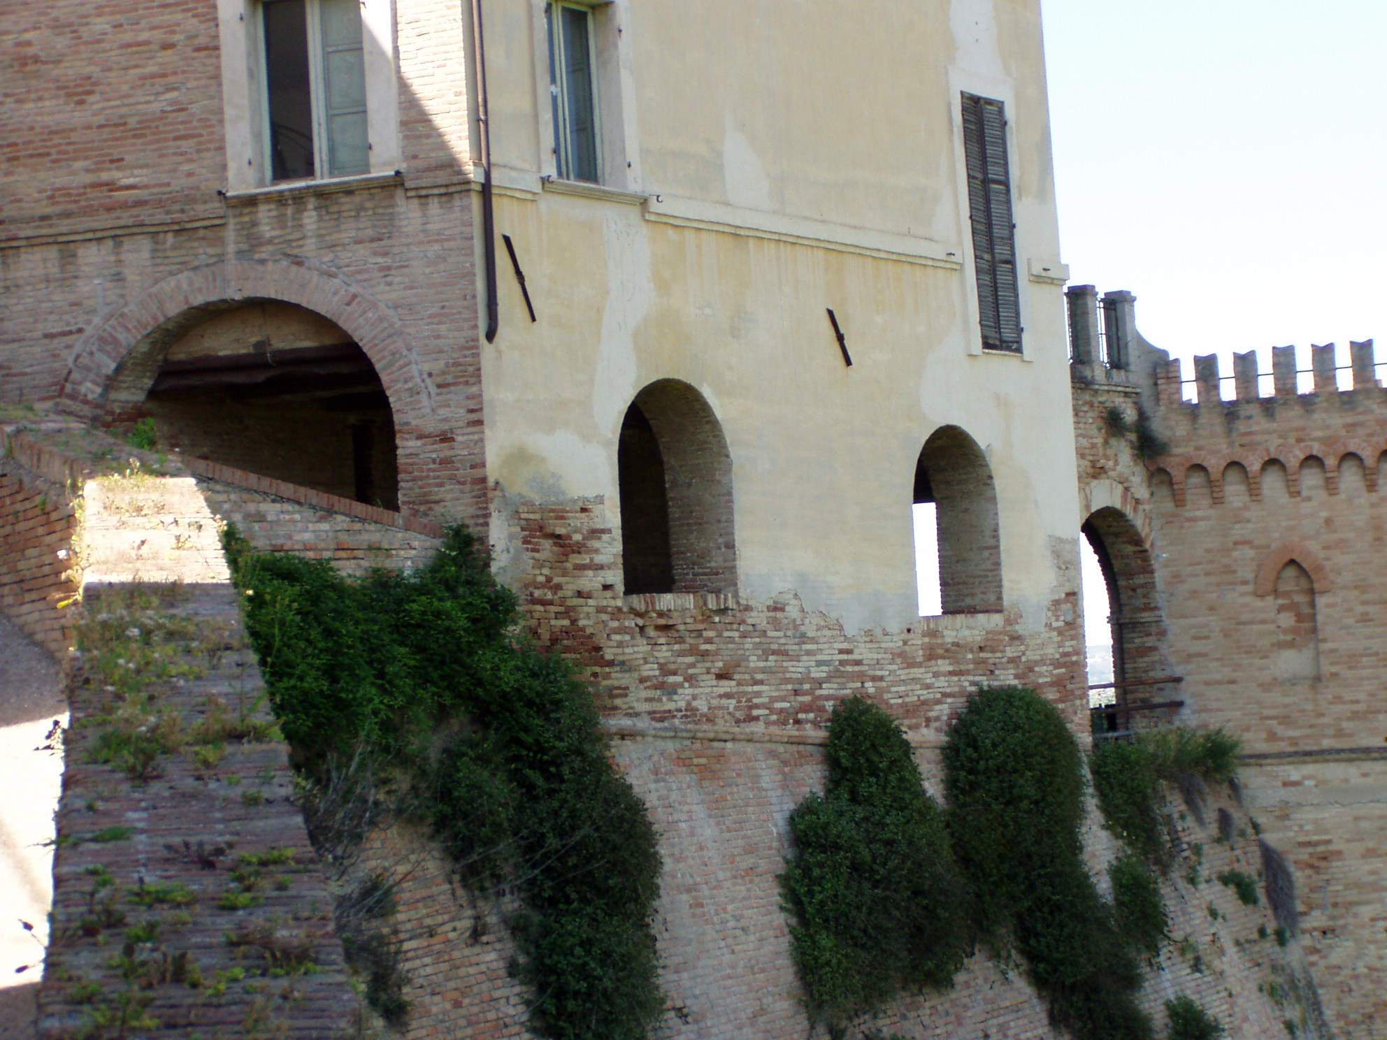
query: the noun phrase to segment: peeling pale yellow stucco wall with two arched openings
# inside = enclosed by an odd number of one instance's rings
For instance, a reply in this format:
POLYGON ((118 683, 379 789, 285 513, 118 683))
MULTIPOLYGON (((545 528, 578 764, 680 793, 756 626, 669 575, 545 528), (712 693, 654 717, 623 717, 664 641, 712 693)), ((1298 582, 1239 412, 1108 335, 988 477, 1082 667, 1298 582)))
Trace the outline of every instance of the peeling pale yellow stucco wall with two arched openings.
POLYGON ((621 417, 651 381, 685 380, 732 455, 741 593, 795 589, 850 630, 896 630, 915 620, 915 458, 953 423, 992 465, 1006 600, 1039 627, 1072 581, 1051 539, 1075 538, 1078 505, 1062 290, 1026 277, 1061 270, 1037 8, 598 8, 605 179, 630 193, 606 198, 540 179, 542 4, 488 8, 497 232, 538 313, 498 244, 483 376, 503 495, 602 495, 617 524, 621 417), (960 90, 1007 101, 1024 358, 979 348, 960 90))

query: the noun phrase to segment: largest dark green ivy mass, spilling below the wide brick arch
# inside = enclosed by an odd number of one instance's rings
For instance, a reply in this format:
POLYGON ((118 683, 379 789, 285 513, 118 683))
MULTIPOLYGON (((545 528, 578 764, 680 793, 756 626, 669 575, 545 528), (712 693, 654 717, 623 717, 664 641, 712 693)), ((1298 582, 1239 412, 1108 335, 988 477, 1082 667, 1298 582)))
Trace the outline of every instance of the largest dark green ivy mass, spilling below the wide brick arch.
MULTIPOLYGON (((355 581, 234 531, 225 544, 325 858, 348 858, 383 811, 426 822, 470 887, 519 894, 531 1030, 648 1036, 664 1003, 655 832, 591 691, 524 642, 476 539, 452 528, 429 567, 355 581)), ((372 935, 347 946, 377 1009, 402 1018, 372 935)))

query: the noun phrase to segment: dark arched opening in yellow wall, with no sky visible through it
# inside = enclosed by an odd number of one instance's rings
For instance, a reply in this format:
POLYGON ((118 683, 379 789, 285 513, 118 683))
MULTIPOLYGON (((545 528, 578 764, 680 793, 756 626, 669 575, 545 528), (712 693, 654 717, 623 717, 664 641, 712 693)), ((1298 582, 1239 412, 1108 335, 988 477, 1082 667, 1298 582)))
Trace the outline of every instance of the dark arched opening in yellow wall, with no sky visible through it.
POLYGON ((637 394, 617 441, 617 492, 627 595, 735 591, 732 458, 694 387, 667 379, 637 394))

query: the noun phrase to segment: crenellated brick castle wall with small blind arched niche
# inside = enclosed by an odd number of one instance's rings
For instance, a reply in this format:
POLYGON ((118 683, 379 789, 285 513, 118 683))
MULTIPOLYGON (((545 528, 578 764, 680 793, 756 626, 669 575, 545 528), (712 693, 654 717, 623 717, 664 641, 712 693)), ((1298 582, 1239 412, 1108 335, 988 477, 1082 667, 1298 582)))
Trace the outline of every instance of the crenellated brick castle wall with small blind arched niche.
POLYGON ((1080 458, 1093 456, 1080 480, 1135 492, 1182 720, 1243 740, 1247 804, 1294 868, 1300 942, 1330 1026, 1384 1036, 1387 886, 1373 864, 1387 832, 1387 527, 1376 505, 1387 394, 1372 345, 1354 345, 1343 391, 1333 348, 1316 348, 1309 394, 1297 392, 1294 352, 1276 351, 1273 385, 1261 387, 1255 355, 1240 355, 1229 401, 1216 359, 1201 358, 1190 404, 1179 362, 1136 341, 1130 373, 1076 367, 1080 458), (1104 430, 1108 399, 1130 394, 1112 381, 1142 388, 1166 441, 1148 466, 1122 462, 1126 448, 1104 430))

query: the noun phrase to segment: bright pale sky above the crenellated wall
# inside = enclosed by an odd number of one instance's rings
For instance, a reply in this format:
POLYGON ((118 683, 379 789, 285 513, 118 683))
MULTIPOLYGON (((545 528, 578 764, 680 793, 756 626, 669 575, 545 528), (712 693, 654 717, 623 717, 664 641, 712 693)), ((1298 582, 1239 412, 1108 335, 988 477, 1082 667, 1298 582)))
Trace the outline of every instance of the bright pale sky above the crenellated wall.
POLYGON ((1223 374, 1375 336, 1387 359, 1387 0, 1042 4, 1072 283, 1133 291, 1151 343, 1223 374))

